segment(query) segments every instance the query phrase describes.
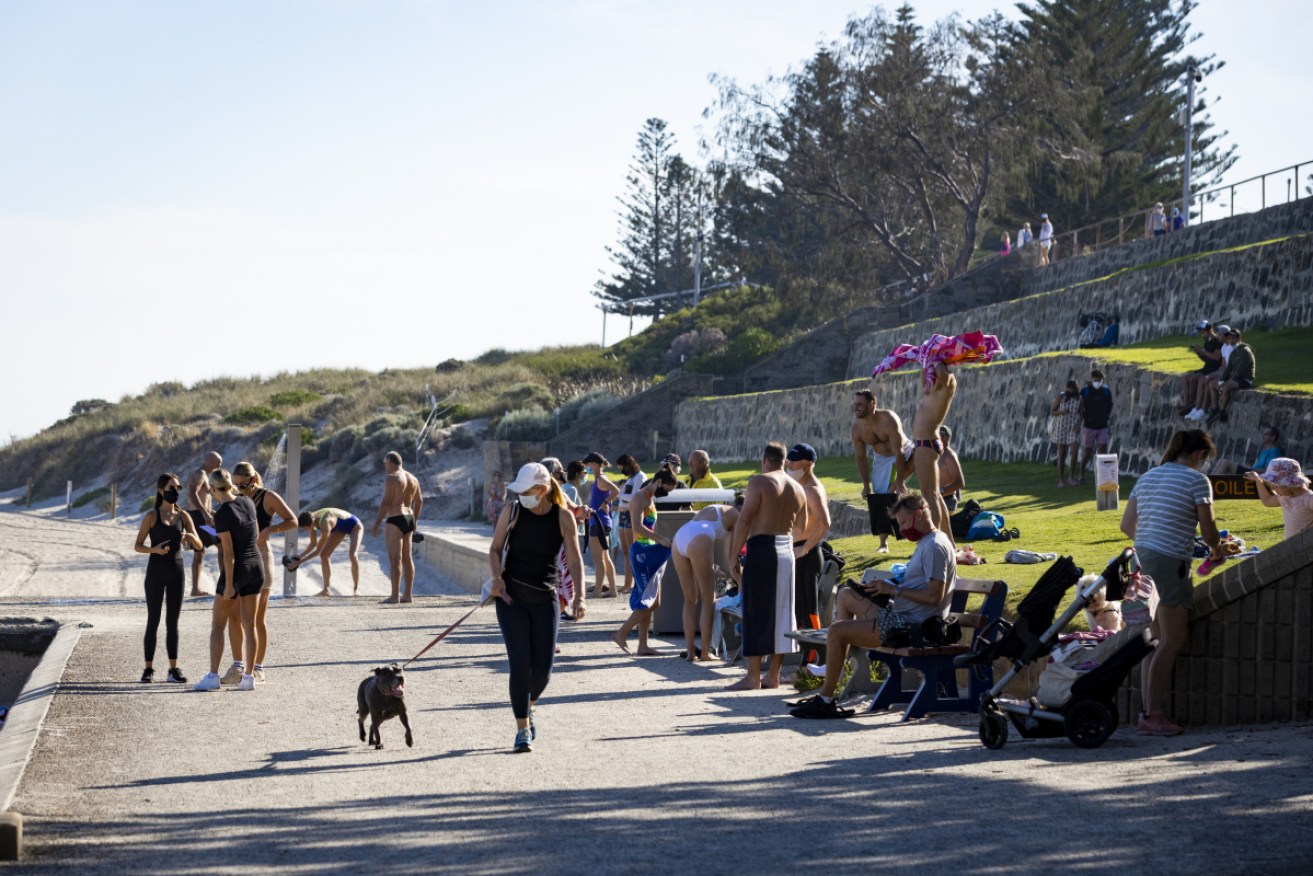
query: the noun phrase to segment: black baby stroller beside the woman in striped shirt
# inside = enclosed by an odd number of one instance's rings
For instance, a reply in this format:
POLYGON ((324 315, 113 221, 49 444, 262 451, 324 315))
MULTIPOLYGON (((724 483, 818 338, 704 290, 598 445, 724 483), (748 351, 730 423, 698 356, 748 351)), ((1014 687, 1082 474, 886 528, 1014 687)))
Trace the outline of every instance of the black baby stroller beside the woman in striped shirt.
POLYGON ((1071 683, 1062 703, 1041 704, 1036 697, 1023 703, 1004 699, 1001 693, 1027 665, 1048 658, 1062 628, 1090 604, 1102 587, 1107 588, 1109 600, 1121 599, 1132 565, 1138 569, 1134 550, 1127 548, 1108 563, 1098 579, 1078 590, 1067 609, 1054 620, 1053 615, 1062 596, 1083 574, 1070 557, 1062 557, 1049 566, 1016 607, 1016 624, 994 621, 981 630, 970 654, 955 659, 957 666, 990 665, 998 658, 1012 661, 1012 668, 981 696, 981 742, 986 749, 1002 749, 1007 743, 1008 718, 1027 739, 1066 734, 1082 749, 1099 747, 1117 729, 1117 688, 1125 682, 1127 674, 1157 646, 1148 628, 1128 628, 1107 640, 1106 645, 1111 647, 1100 646, 1100 650, 1111 653, 1104 653, 1095 668, 1071 683))

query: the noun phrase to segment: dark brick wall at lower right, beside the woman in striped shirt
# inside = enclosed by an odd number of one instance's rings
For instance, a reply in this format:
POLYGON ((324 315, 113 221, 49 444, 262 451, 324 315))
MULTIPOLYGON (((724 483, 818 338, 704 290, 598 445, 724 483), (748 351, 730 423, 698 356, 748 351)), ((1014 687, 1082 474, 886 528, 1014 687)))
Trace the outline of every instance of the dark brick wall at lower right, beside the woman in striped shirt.
MULTIPOLYGON (((1186 725, 1313 718, 1313 531, 1229 565, 1195 588, 1190 644, 1167 713, 1186 725)), ((1121 718, 1140 709, 1140 674, 1121 718)))

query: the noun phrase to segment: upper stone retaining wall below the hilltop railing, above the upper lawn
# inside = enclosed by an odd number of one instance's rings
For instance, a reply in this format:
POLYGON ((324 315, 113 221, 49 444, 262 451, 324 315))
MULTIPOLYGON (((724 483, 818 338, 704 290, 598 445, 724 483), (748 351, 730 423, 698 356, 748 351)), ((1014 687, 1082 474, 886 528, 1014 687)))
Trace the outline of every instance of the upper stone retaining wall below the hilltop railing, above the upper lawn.
POLYGON ((1200 319, 1242 331, 1313 324, 1313 235, 868 332, 852 345, 847 376, 871 374, 897 344, 932 332, 997 334, 1008 359, 1071 349, 1081 336, 1078 317, 1091 311, 1121 315, 1123 344, 1187 334, 1200 319))

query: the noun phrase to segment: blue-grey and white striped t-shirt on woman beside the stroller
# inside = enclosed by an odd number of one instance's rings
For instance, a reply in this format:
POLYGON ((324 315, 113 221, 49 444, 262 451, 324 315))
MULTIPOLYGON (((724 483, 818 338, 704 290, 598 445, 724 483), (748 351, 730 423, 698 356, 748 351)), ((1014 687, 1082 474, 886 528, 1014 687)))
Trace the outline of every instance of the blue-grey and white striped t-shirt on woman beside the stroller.
POLYGON ((1190 559, 1195 553, 1197 506, 1213 503, 1208 477, 1180 462, 1149 469, 1130 490, 1136 500, 1136 548, 1190 559))

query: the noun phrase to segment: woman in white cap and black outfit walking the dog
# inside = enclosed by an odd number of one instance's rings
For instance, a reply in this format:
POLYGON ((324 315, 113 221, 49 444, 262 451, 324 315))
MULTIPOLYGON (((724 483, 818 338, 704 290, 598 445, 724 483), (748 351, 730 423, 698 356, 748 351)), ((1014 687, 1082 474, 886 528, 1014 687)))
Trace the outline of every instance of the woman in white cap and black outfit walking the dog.
MULTIPOLYGON (((496 521, 488 550, 490 592, 498 598, 496 620, 511 667, 515 751, 532 751, 538 735, 533 705, 551 678, 561 623, 557 556, 565 546, 566 566, 575 580, 583 580, 583 559, 575 517, 546 468, 529 462, 507 489, 520 499, 508 502, 496 521)), ((575 587, 575 620, 583 620, 583 587, 575 587)))

